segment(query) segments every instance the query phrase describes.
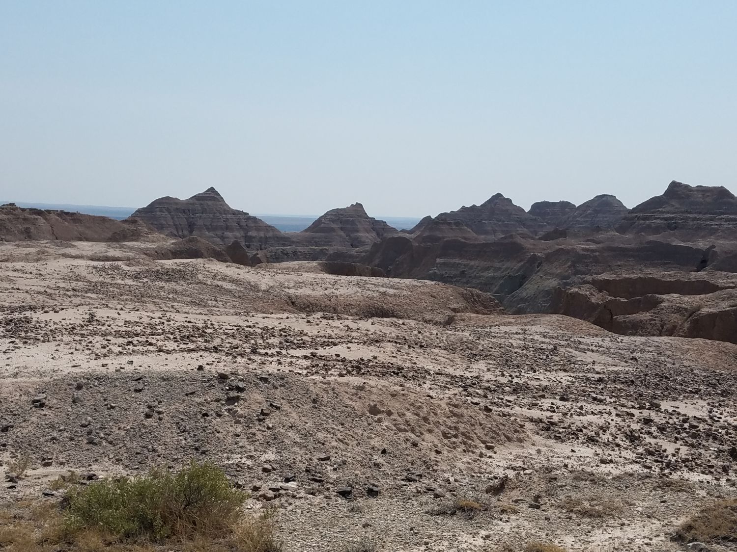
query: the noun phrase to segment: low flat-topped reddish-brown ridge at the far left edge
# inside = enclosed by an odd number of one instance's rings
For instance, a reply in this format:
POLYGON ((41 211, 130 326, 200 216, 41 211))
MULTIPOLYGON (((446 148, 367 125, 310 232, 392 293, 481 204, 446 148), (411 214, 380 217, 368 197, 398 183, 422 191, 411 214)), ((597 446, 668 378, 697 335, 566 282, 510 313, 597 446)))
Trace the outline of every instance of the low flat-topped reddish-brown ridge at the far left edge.
POLYGON ((0 241, 164 241, 156 230, 137 219, 119 221, 106 216, 63 210, 0 206, 0 241))

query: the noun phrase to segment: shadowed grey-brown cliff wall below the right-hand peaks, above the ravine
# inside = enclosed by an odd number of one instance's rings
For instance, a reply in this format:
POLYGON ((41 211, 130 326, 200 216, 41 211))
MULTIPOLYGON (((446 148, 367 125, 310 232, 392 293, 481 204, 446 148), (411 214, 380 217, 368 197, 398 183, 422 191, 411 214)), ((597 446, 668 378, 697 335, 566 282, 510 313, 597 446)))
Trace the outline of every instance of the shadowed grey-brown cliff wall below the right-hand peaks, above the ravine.
POLYGON ((695 272, 705 250, 687 244, 642 240, 616 233, 593 239, 542 241, 507 236, 495 241, 447 239, 419 243, 411 237, 374 244, 362 263, 387 275, 438 280, 494 294, 514 314, 551 311, 553 291, 617 269, 695 272))

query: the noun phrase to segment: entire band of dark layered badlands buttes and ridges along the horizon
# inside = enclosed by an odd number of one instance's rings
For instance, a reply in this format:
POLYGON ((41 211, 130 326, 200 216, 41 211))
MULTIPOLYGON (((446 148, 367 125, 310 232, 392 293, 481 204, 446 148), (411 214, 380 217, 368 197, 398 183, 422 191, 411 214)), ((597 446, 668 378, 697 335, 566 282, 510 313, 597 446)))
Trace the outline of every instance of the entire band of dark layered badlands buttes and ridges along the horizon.
POLYGON ((157 259, 323 261, 336 274, 478 289, 513 314, 565 314, 617 333, 736 339, 737 198, 722 187, 672 182, 629 213, 609 194, 577 207, 536 202, 528 212, 495 194, 404 232, 354 203, 282 233, 230 208, 214 188, 156 199, 122 222, 0 209, 6 241, 164 241, 152 227, 179 238, 146 253, 157 259))

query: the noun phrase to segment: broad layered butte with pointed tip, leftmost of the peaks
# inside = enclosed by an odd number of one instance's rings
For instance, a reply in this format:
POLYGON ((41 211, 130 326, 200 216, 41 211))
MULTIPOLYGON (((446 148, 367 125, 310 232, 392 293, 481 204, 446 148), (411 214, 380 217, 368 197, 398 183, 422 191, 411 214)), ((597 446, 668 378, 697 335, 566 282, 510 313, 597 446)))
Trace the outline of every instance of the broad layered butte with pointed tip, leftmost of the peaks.
POLYGON ((136 210, 130 218, 141 219, 172 238, 198 236, 219 245, 239 241, 248 250, 293 243, 289 236, 270 224, 245 211, 231 208, 215 188, 208 188, 189 199, 155 199, 136 210))

